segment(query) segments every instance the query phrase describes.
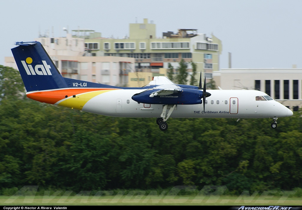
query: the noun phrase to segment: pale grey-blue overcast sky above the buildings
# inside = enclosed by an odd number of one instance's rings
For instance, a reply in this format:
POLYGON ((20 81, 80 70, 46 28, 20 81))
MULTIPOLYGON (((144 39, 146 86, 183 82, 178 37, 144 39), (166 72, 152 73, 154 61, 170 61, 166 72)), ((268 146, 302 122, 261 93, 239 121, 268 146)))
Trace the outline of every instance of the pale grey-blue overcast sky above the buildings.
POLYGON ((102 37, 129 36, 130 23, 156 24, 156 36, 195 28, 222 41, 220 68, 302 68, 300 0, 9 0, 0 2, 0 65, 16 41, 64 37, 87 28, 102 37))

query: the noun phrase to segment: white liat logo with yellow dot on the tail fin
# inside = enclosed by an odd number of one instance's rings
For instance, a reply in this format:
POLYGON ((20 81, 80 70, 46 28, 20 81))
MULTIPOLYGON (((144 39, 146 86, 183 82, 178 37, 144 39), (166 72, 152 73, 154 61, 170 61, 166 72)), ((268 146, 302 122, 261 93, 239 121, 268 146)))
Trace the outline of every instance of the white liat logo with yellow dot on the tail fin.
POLYGON ((42 61, 43 65, 39 64, 34 67, 31 65, 32 62, 33 59, 31 57, 27 57, 25 61, 21 61, 27 75, 52 75, 50 72, 50 65, 48 65, 46 61, 42 61))

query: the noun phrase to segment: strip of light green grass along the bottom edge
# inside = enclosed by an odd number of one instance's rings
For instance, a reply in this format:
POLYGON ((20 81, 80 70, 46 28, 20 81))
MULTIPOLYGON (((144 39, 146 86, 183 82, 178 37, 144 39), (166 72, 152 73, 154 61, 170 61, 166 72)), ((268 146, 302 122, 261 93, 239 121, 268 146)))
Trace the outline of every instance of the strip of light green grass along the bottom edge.
POLYGON ((0 205, 302 205, 301 198, 281 196, 0 196, 0 205))

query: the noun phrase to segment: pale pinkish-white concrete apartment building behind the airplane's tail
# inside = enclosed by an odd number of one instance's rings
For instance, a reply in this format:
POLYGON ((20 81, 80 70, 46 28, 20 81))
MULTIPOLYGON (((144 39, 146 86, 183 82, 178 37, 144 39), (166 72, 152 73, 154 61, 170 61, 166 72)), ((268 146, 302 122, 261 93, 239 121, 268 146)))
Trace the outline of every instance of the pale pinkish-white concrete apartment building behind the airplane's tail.
MULTIPOLYGON (((92 56, 85 49, 85 39, 81 37, 67 34, 66 37, 39 37, 35 40, 42 43, 59 72, 66 78, 127 86, 128 73, 134 72, 134 58, 92 56)), ((18 69, 13 57, 5 57, 5 65, 18 69)))

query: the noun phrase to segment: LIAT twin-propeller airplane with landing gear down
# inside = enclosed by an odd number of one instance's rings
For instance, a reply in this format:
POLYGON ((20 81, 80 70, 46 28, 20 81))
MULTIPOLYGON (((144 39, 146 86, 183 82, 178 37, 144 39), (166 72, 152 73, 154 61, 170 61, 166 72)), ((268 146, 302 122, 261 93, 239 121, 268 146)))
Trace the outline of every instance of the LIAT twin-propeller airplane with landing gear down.
MULTIPOLYGON (((40 42, 16 42, 11 49, 27 97, 44 103, 114 117, 157 118, 162 131, 169 117, 179 118, 272 118, 293 112, 257 90, 210 90, 175 84, 156 76, 144 87, 124 88, 63 78, 40 42), (206 107, 206 109, 205 109, 206 107)), ((237 120, 237 121, 238 121, 237 120)))

